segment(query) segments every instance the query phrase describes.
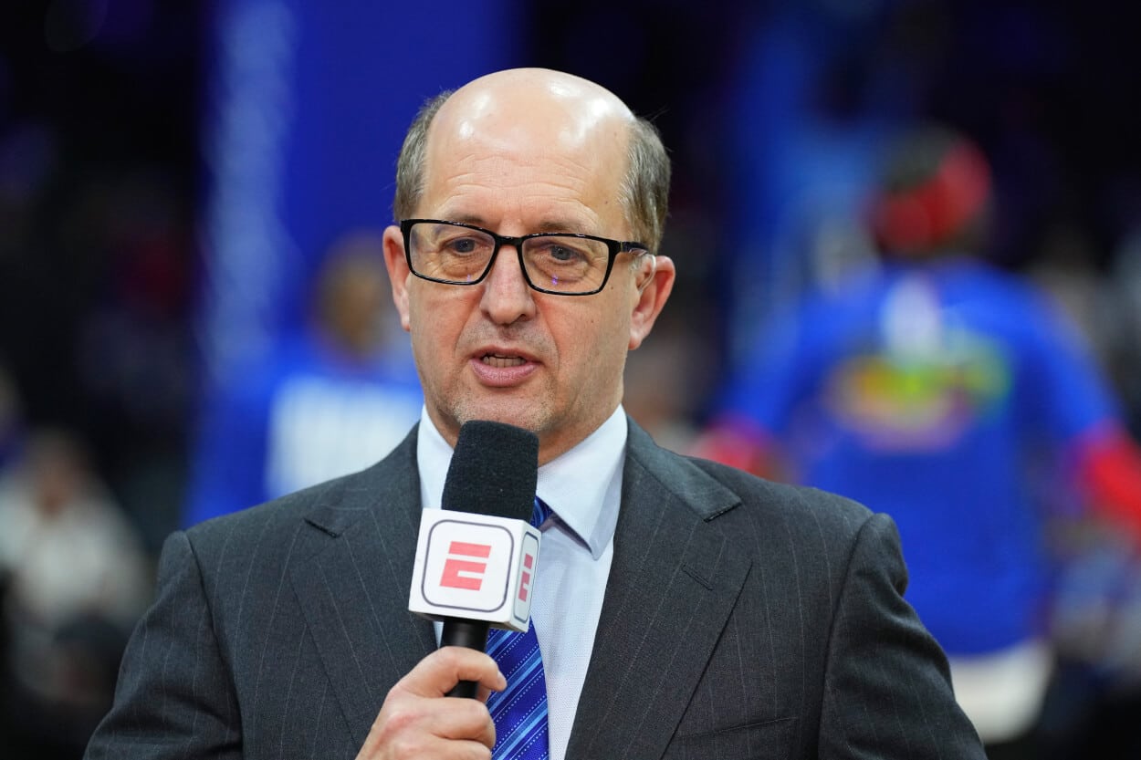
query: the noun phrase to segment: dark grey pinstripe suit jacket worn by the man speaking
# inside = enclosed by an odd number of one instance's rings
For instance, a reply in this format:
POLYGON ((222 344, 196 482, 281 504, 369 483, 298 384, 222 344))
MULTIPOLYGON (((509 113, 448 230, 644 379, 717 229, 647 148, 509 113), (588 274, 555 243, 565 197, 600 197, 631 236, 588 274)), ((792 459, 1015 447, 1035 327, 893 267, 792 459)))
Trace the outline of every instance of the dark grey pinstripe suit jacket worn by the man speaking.
MULTIPOLYGON (((435 647, 407 613, 415 430, 365 470, 175 533, 89 760, 354 758, 435 647)), ((978 758, 891 520, 630 423, 567 758, 978 758)))

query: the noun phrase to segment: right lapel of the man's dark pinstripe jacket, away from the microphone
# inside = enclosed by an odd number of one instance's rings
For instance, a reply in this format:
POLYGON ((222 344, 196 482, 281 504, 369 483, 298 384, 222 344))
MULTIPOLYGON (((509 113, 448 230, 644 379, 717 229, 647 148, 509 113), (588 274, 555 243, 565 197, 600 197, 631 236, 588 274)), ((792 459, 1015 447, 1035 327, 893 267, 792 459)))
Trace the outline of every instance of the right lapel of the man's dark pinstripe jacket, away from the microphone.
POLYGON ((748 573, 706 520, 739 500, 632 421, 614 560, 567 758, 661 758, 748 573))

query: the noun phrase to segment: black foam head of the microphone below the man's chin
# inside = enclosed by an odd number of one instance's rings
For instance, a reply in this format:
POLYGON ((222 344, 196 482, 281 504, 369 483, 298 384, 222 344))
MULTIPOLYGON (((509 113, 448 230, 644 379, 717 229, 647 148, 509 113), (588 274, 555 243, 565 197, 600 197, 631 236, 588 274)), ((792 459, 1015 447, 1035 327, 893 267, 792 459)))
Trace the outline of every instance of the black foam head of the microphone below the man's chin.
POLYGON ((503 422, 460 427, 444 480, 444 509, 529 520, 539 480, 539 436, 503 422))

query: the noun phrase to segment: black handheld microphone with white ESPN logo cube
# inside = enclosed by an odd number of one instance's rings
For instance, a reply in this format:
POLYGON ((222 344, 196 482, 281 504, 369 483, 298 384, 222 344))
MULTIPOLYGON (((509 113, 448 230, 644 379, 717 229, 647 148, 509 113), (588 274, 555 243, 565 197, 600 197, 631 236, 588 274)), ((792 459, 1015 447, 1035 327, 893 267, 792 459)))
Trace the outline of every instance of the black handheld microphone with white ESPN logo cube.
MULTIPOLYGON (((444 480, 443 509, 426 509, 408 609, 442 621, 440 646, 483 652, 487 629, 524 632, 541 533, 529 523, 539 479, 539 437, 502 422, 471 420, 444 480)), ((448 696, 476 696, 460 681, 448 696)))

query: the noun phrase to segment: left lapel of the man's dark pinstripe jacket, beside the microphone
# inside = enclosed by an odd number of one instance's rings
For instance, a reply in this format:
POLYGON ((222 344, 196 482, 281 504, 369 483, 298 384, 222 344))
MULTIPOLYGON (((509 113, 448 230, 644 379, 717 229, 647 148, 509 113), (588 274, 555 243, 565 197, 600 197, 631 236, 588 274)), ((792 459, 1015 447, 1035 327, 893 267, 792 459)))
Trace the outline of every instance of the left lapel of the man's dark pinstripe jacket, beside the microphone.
POLYGON ((420 526, 415 429, 382 462, 346 478, 306 518, 311 556, 293 589, 354 739, 363 744, 388 689, 436 648, 407 612, 420 526))

